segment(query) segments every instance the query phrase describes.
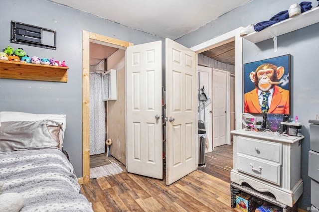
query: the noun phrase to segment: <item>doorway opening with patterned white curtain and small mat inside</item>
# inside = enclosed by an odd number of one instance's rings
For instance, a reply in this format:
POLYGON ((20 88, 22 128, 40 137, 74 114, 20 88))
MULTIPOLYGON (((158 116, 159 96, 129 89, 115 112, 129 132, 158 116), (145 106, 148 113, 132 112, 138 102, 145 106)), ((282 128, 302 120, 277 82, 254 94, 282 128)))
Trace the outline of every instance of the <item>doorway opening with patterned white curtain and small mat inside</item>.
POLYGON ((126 170, 124 64, 125 50, 90 42, 91 179, 126 170))

